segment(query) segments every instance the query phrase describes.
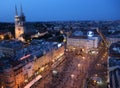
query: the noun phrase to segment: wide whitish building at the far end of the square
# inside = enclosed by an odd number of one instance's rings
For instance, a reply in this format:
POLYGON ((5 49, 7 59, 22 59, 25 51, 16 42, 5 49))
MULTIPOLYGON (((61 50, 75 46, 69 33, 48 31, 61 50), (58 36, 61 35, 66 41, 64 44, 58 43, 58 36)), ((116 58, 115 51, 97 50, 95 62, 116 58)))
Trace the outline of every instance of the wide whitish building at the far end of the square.
POLYGON ((77 36, 73 35, 73 36, 67 37, 67 48, 69 50, 84 49, 87 52, 90 49, 97 48, 98 43, 99 43, 98 37, 95 37, 95 36, 88 37, 87 35, 83 36, 83 33, 80 33, 80 36, 78 36, 78 34, 77 34, 77 36))

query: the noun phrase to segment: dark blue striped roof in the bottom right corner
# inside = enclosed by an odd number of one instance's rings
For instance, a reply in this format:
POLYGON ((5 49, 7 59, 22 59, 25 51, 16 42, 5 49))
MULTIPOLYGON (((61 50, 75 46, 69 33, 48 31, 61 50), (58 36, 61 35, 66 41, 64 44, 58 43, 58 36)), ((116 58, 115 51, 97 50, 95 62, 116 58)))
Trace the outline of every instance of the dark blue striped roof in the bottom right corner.
POLYGON ((109 78, 110 88, 119 88, 120 86, 120 58, 110 57, 109 58, 109 78))

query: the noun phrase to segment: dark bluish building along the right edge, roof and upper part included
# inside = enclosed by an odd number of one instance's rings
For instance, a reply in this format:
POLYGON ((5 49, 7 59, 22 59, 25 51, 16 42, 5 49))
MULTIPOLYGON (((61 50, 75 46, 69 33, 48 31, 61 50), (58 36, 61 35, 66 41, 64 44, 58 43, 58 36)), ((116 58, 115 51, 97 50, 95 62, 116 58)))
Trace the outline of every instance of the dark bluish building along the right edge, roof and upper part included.
POLYGON ((111 44, 108 57, 108 88, 120 88, 120 42, 111 44))

